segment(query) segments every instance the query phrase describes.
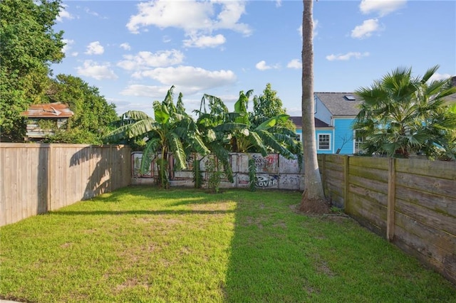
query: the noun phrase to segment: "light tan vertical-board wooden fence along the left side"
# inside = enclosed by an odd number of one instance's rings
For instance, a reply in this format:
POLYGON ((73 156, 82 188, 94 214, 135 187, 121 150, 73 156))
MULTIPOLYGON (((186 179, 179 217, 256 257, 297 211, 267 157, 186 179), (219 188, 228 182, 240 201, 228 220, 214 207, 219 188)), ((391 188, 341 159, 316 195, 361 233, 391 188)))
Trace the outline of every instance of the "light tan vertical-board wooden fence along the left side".
POLYGON ((130 184, 130 147, 0 143, 0 226, 130 184))

